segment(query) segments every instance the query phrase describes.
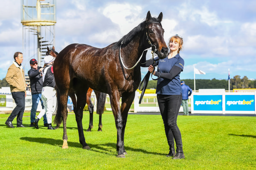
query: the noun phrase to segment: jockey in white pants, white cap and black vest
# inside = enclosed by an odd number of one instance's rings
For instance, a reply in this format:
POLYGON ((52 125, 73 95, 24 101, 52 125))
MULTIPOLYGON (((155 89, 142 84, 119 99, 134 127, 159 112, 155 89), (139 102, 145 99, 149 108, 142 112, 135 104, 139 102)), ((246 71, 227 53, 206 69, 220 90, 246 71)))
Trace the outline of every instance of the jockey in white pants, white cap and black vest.
POLYGON ((53 75, 52 64, 54 61, 54 57, 46 56, 44 57, 44 63, 47 64, 43 71, 43 89, 42 89, 42 100, 44 103, 44 109, 39 113, 37 119, 33 122, 36 129, 38 127, 38 121, 46 114, 48 129, 54 130, 52 127, 52 113, 55 111, 56 108, 56 91, 55 91, 55 79, 53 75))

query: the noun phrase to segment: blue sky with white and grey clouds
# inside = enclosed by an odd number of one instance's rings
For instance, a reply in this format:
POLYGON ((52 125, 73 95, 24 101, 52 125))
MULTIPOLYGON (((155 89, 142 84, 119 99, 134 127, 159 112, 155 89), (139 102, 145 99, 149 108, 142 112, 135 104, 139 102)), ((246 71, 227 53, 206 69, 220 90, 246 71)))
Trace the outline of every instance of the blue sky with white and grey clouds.
MULTIPOLYGON (((47 0, 45 0, 47 3, 47 0)), ((0 6, 0 79, 5 78, 16 51, 23 52, 20 0, 0 6)), ((55 51, 72 43, 103 48, 138 26, 150 11, 163 12, 164 39, 183 37, 180 79, 194 79, 194 67, 205 75, 195 79, 256 79, 255 0, 57 0, 55 51)), ((151 57, 148 52, 147 59, 151 57)), ((23 56, 25 74, 31 56, 23 56)), ((147 68, 142 68, 144 77, 147 68)))

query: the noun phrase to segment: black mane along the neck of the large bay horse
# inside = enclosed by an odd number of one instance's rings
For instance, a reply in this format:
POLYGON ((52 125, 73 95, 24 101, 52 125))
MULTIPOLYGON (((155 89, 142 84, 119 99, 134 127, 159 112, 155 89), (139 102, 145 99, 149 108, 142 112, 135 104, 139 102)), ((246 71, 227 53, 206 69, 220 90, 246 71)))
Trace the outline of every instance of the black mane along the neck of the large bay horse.
POLYGON ((121 43, 124 46, 127 45, 129 42, 131 42, 134 36, 136 36, 140 31, 145 31, 145 28, 151 23, 160 23, 160 25, 162 26, 161 21, 155 17, 151 17, 149 21, 144 19, 142 23, 140 23, 137 27, 133 28, 128 34, 126 34, 118 42, 116 42, 113 45, 113 48, 119 48, 121 43))

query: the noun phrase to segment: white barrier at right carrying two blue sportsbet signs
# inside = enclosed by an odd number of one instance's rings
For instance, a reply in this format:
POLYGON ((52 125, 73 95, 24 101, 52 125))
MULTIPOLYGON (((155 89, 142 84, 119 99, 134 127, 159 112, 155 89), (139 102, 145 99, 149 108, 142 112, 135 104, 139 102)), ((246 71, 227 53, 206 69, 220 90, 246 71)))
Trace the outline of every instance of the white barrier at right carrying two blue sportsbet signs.
POLYGON ((248 113, 256 114, 256 92, 193 93, 192 113, 248 113))

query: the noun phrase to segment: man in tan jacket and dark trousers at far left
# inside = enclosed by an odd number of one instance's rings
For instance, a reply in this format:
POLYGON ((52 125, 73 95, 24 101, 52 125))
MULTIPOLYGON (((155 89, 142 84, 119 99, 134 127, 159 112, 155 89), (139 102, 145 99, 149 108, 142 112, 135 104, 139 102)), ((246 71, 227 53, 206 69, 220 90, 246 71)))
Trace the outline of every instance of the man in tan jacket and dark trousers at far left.
POLYGON ((17 127, 25 127, 22 124, 22 117, 25 110, 26 97, 26 82, 24 70, 21 63, 23 62, 23 54, 16 52, 14 54, 13 64, 8 68, 6 74, 6 82, 9 83, 12 98, 15 100, 16 107, 13 109, 11 115, 6 120, 5 124, 14 128, 12 125, 13 119, 17 116, 17 127))

